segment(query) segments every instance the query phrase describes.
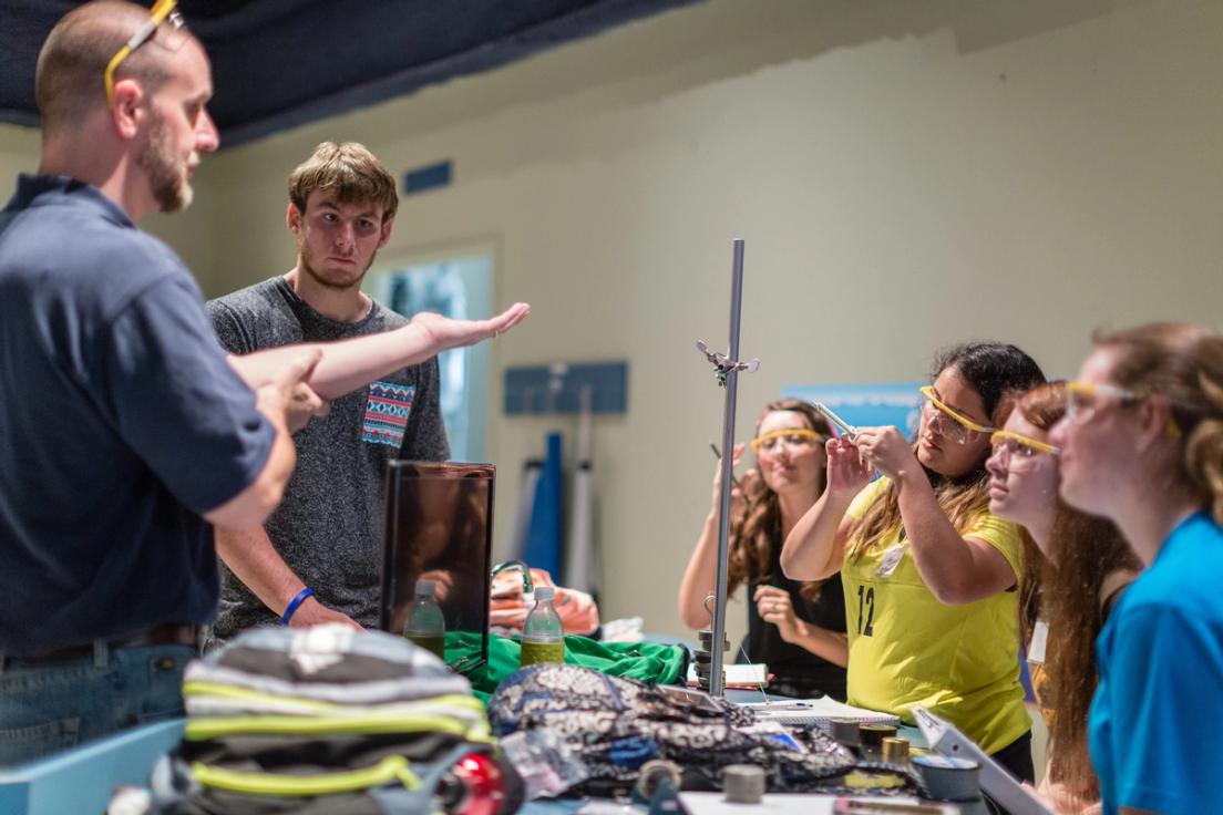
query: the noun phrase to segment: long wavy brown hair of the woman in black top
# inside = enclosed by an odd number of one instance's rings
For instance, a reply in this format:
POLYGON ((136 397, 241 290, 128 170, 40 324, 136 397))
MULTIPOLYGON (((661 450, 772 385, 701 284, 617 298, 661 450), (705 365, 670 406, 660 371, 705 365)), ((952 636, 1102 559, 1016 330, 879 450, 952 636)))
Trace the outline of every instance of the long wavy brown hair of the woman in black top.
MULTIPOLYGON (((797 413, 807 423, 807 426, 816 433, 830 436, 832 429, 824 417, 816 412, 810 402, 796 398, 780 398, 764 406, 761 419, 757 420, 757 435, 759 424, 769 413, 797 413)), ((827 477, 824 478, 827 484, 827 477)), ((823 491, 824 484, 819 489, 823 491)), ((753 478, 744 484, 746 490, 747 506, 742 514, 734 518, 730 524, 730 545, 726 556, 726 594, 734 594, 742 583, 755 583, 764 579, 769 573, 769 561, 774 549, 780 547, 781 538, 781 502, 777 492, 764 484, 763 478, 753 478)), ((802 596, 813 601, 819 596, 819 587, 823 580, 812 580, 804 584, 802 596)))

